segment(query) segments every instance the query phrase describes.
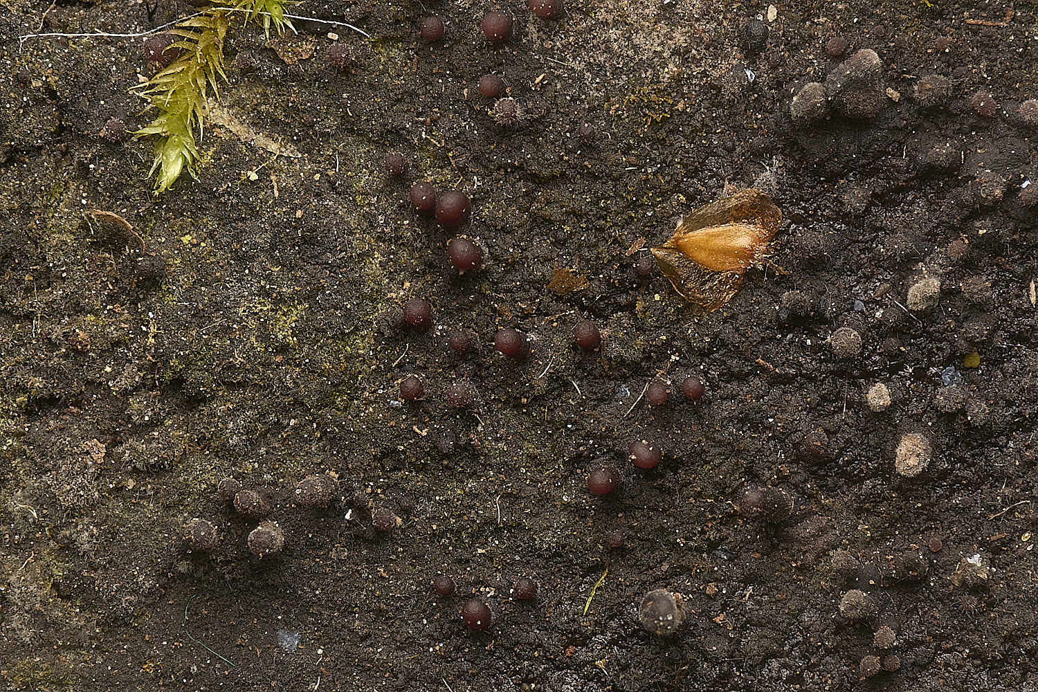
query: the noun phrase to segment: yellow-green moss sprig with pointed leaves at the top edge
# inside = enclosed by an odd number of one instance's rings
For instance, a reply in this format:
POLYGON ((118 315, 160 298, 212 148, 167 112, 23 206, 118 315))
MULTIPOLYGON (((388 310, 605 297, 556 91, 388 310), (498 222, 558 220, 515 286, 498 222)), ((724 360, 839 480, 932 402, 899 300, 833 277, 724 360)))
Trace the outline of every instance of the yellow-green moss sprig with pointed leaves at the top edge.
POLYGON ((288 3, 283 0, 238 0, 233 6, 217 6, 201 15, 180 22, 170 33, 179 40, 167 51, 179 51, 173 62, 145 84, 138 93, 159 110, 152 122, 138 130, 136 137, 157 135, 155 160, 148 175, 156 175, 155 190, 161 194, 168 190, 185 169, 198 178, 198 147, 196 136, 201 137, 207 99, 219 99, 219 81, 227 81, 223 72, 223 45, 229 18, 242 12, 245 21, 253 21, 270 31, 273 25, 280 33, 292 29, 284 15, 288 3))

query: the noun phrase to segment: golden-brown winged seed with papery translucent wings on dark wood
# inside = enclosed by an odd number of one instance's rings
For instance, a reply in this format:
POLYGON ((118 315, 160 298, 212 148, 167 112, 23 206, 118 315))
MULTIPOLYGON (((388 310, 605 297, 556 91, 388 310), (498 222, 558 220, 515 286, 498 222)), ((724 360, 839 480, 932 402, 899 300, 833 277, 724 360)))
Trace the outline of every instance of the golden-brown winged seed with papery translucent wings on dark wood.
POLYGON ((765 261, 781 223, 771 198, 749 188, 686 216, 652 253, 675 290, 711 312, 732 300, 747 269, 765 261))

